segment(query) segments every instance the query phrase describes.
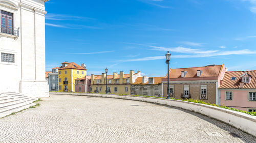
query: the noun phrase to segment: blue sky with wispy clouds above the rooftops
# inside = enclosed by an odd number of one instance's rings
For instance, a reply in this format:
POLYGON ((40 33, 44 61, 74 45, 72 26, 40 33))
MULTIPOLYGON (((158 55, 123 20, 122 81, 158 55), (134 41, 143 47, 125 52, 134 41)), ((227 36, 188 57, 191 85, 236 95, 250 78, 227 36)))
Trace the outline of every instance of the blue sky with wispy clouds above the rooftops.
POLYGON ((85 63, 88 74, 225 64, 256 70, 255 0, 67 0, 46 3, 46 70, 85 63))

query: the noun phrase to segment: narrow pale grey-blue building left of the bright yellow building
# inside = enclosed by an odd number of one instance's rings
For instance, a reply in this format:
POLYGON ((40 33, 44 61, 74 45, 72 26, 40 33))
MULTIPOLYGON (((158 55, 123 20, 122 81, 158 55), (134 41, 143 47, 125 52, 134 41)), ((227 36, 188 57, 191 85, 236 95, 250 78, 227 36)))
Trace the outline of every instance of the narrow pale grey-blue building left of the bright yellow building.
POLYGON ((49 91, 58 91, 59 89, 58 69, 59 67, 53 68, 52 72, 48 74, 49 91))

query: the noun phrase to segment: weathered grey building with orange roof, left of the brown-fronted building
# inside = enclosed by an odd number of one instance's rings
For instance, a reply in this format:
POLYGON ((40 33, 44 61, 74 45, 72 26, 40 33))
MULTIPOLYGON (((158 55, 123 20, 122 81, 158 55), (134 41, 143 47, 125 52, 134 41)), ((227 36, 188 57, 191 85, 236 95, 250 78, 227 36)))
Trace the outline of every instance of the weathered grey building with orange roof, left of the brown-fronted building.
POLYGON ((161 97, 162 78, 164 77, 138 77, 131 85, 131 94, 161 97))

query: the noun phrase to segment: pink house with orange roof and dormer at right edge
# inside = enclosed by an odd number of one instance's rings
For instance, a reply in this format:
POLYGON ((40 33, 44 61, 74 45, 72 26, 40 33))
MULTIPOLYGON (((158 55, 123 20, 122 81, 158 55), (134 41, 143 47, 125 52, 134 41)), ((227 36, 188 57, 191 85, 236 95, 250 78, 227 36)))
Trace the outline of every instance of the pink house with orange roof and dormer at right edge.
POLYGON ((226 72, 219 90, 221 105, 256 110, 256 70, 226 72))

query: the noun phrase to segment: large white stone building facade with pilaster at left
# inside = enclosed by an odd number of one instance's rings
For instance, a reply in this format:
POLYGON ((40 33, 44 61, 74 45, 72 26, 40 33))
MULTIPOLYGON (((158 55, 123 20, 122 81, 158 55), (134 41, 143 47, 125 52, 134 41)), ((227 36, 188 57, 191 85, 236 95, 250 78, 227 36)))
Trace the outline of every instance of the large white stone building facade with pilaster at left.
POLYGON ((49 97, 45 78, 45 2, 0 1, 0 93, 49 97), (3 70, 5 69, 5 70, 3 70))

